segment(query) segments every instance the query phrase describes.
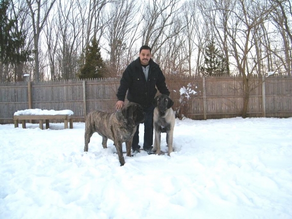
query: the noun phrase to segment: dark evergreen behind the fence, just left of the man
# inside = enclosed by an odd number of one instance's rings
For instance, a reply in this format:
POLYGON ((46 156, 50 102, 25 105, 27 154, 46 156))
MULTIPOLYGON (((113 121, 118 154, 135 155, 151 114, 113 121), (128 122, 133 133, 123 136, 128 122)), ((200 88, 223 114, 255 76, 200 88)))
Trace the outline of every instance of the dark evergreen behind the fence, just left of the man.
POLYGON ((94 37, 91 41, 91 45, 89 45, 85 51, 85 64, 80 69, 80 73, 77 76, 80 79, 101 78, 103 77, 104 68, 105 64, 100 55, 100 48, 94 37))

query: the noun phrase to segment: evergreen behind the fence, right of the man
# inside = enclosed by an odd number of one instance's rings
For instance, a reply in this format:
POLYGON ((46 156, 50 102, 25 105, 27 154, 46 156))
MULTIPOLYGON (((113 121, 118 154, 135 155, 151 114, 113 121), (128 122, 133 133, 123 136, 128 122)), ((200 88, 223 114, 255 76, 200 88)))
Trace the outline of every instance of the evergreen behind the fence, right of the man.
POLYGON ((201 66, 203 75, 218 76, 228 74, 228 63, 219 49, 215 47, 214 41, 207 45, 205 49, 205 61, 201 66))

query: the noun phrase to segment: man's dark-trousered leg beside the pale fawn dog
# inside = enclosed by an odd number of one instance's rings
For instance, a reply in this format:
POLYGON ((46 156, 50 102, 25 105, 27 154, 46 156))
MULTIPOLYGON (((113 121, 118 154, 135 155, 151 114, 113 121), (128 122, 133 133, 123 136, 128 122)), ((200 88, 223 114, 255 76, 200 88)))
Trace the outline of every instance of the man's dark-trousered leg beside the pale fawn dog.
POLYGON ((153 145, 153 112, 154 106, 150 106, 144 109, 146 112, 146 120, 144 122, 144 143, 143 149, 149 150, 152 149, 153 145))

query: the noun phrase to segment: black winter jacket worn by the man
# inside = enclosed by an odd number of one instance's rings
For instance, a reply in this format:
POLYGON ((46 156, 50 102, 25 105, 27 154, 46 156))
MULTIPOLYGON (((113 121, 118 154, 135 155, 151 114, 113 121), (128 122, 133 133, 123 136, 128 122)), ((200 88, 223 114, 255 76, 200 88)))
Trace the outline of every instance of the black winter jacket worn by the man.
POLYGON ((152 59, 149 60, 149 65, 147 82, 142 70, 140 57, 128 65, 120 81, 120 87, 117 92, 118 100, 125 101, 126 92, 128 91, 128 101, 138 103, 142 107, 148 107, 154 100, 157 89, 160 93, 169 96, 165 77, 159 65, 152 59))

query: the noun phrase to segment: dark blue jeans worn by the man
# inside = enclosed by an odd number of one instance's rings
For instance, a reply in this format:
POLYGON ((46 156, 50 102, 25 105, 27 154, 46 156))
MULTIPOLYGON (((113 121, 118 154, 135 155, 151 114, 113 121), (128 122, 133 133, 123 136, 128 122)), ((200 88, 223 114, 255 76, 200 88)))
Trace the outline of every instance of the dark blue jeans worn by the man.
MULTIPOLYGON (((143 108, 143 111, 146 113, 146 119, 144 122, 144 143, 143 147, 153 145, 153 112, 154 106, 150 105, 149 107, 143 108)), ((139 125, 133 137, 132 146, 139 145, 139 125)))

